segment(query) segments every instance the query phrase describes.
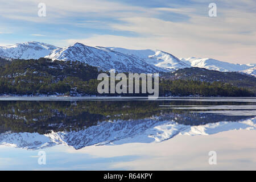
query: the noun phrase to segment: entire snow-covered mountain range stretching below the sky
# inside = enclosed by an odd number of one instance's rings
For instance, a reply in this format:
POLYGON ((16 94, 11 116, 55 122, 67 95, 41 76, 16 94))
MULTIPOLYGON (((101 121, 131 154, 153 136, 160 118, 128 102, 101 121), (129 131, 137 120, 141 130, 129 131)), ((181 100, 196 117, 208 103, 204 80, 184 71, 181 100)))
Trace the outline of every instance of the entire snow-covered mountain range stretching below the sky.
POLYGON ((168 52, 152 49, 133 50, 118 47, 90 47, 81 43, 59 48, 46 43, 27 42, 0 46, 0 57, 7 59, 39 59, 83 61, 105 71, 154 73, 180 68, 199 67, 221 72, 255 75, 256 64, 232 64, 209 58, 178 59, 168 52))

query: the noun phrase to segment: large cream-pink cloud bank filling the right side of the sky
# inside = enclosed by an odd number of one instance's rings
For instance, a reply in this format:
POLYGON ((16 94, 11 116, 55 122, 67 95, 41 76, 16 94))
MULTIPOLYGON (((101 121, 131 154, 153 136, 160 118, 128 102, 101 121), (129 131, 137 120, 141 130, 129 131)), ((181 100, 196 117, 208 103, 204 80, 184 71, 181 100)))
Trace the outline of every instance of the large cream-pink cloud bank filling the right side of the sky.
POLYGON ((188 15, 190 19, 187 22, 132 16, 119 18, 125 23, 109 24, 113 30, 135 32, 137 36, 134 37, 105 34, 86 39, 68 39, 66 42, 131 49, 153 48, 177 57, 212 57, 232 63, 256 63, 255 12, 219 8, 219 15, 210 18, 208 14, 196 14, 198 9, 154 9, 188 15))

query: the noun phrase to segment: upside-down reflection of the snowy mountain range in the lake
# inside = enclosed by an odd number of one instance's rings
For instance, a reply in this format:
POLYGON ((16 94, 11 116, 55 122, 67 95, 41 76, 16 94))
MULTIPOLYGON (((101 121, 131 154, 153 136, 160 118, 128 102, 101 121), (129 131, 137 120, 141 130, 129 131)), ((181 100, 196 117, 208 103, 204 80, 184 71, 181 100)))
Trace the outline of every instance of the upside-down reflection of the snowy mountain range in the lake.
POLYGON ((199 126, 180 125, 175 121, 147 118, 131 121, 102 122, 97 126, 71 132, 49 134, 2 133, 0 144, 39 150, 64 144, 80 149, 86 146, 124 143, 162 142, 176 135, 210 135, 229 130, 255 130, 256 118, 238 122, 216 122, 199 126))

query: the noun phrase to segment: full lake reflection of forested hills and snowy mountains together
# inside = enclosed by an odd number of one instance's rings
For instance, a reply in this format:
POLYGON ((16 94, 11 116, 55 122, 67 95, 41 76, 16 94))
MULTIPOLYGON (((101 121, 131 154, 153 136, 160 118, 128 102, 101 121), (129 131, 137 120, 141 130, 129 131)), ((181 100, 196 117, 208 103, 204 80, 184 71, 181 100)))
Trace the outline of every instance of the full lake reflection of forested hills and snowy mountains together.
MULTIPOLYGON (((196 104, 201 103, 0 102, 0 144, 32 150, 66 144, 79 149, 94 144, 161 142, 177 134, 207 135, 256 128, 255 116, 159 107, 196 104)), ((211 103, 217 104, 221 103, 211 103)))

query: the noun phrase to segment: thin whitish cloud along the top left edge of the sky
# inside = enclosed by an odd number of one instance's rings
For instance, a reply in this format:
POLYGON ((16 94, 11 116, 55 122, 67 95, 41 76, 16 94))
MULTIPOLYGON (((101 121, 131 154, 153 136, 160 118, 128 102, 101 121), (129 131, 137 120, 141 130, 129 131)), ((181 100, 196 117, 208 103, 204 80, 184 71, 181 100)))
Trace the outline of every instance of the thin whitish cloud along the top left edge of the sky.
MULTIPOLYGON (((26 20, 28 22, 42 22, 47 19, 47 23, 63 23, 63 19, 68 22, 70 18, 94 17, 123 17, 132 14, 139 14, 148 11, 142 7, 123 5, 119 2, 110 2, 104 0, 73 0, 72 2, 60 0, 44 0, 46 4, 46 17, 38 16, 38 4, 41 1, 12 0, 1 3, 1 16, 9 19, 26 20), (20 9, 22 7, 22 9, 20 9), (59 22, 59 20, 61 20, 59 22)), ((148 14, 150 12, 148 11, 148 14)))

